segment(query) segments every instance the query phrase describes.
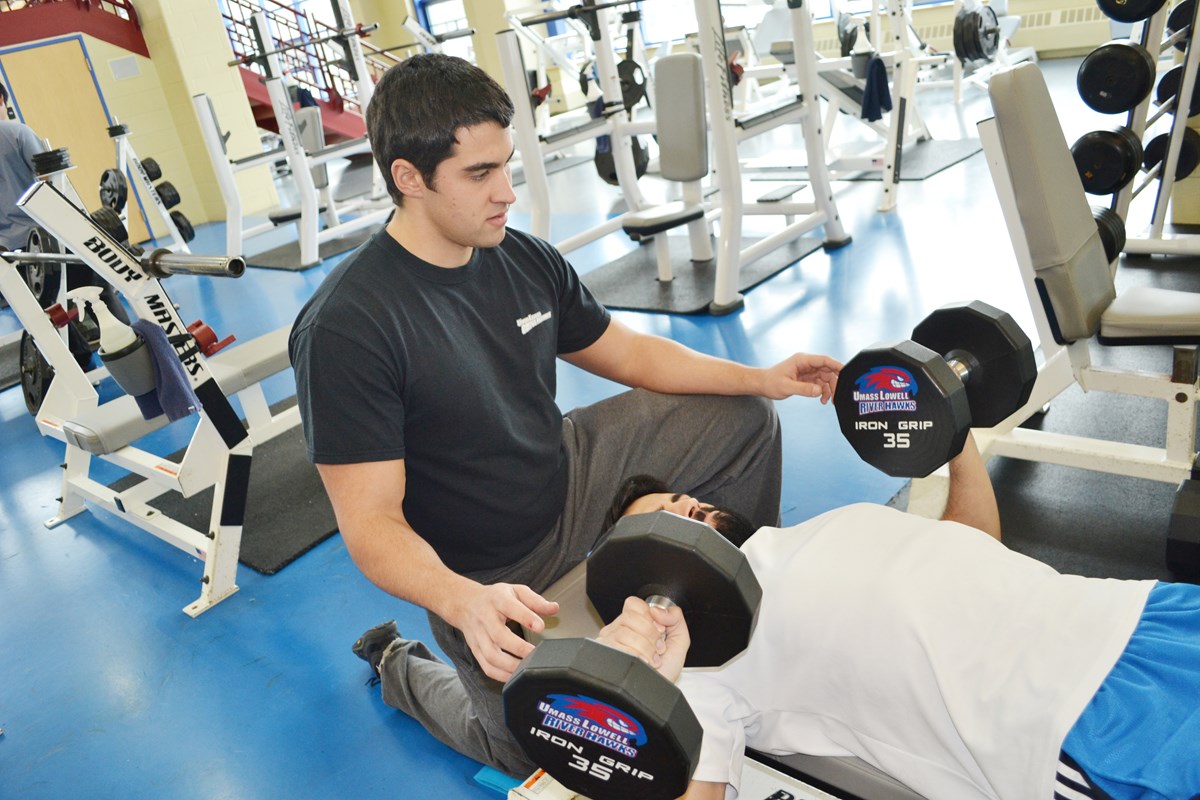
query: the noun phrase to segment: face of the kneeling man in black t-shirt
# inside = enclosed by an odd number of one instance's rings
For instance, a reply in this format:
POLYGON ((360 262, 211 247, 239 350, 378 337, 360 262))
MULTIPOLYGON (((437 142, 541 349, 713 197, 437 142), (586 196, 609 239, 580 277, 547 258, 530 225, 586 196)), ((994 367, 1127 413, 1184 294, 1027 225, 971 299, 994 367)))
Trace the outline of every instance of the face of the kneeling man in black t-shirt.
POLYGON ((456 138, 454 155, 438 164, 422 198, 431 245, 451 260, 469 248, 496 247, 504 241, 508 210, 516 201, 508 128, 482 122, 460 128, 456 138))

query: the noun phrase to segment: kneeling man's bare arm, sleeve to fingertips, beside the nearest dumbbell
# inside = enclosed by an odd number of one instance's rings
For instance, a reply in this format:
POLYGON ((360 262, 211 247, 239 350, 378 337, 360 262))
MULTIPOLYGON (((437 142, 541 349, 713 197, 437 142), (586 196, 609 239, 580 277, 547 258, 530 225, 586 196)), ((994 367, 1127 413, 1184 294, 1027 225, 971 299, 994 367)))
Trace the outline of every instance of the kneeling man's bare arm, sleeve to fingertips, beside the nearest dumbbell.
POLYGON ((317 464, 337 527, 354 564, 373 584, 426 608, 462 631, 484 673, 512 676, 533 645, 509 630, 511 619, 532 631, 558 613, 529 587, 485 585, 454 572, 404 518, 403 459, 317 464))

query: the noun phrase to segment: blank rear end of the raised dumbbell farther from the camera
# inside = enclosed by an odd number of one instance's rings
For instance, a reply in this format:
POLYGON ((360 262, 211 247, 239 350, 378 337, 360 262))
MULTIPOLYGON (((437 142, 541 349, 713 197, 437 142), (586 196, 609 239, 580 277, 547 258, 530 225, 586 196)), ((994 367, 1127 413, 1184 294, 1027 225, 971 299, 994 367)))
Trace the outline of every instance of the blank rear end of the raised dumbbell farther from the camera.
POLYGON ((970 365, 962 383, 972 427, 997 425, 1033 392, 1038 377, 1033 343, 1016 320, 994 306, 978 300, 942 306, 913 329, 912 338, 943 359, 970 365))

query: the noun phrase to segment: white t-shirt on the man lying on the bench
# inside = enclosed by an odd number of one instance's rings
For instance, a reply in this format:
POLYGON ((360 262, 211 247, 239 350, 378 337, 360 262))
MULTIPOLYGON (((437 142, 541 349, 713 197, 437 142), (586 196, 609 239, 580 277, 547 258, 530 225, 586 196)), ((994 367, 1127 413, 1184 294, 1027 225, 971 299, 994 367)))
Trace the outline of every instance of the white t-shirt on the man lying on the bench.
POLYGON ((1063 738, 1153 581, 1064 576, 986 534, 880 505, 763 528, 745 652, 679 680, 697 781, 737 796, 745 746, 857 756, 932 799, 1049 798, 1063 738))

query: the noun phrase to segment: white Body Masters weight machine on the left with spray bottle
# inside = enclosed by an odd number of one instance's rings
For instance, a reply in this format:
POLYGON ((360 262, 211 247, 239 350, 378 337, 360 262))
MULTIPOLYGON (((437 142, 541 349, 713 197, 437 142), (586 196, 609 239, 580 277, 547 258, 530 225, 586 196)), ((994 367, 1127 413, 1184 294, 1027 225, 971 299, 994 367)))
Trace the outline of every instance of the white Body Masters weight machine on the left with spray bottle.
MULTIPOLYGON (((180 359, 202 408, 180 461, 149 450, 140 440, 166 427, 168 417, 146 420, 130 395, 102 403, 94 385, 101 371, 84 372, 65 336, 18 272, 18 264, 31 263, 38 254, 0 255, 0 293, 54 369, 34 416, 42 435, 66 446, 58 511, 46 525, 59 525, 92 504, 199 558, 204 563, 200 594, 184 608, 196 616, 238 590, 238 554, 254 444, 278 435, 300 420, 295 407, 272 413, 260 385, 269 375, 289 367, 290 326, 209 357, 205 351, 215 353, 229 339, 205 342, 199 326, 185 325, 158 278, 176 272, 238 276, 245 270, 245 261, 235 257, 172 253, 166 248, 134 257, 83 211, 68 187, 64 176, 38 180, 18 200, 18 206, 70 251, 41 254, 42 259, 86 265, 104 285, 115 287, 139 319, 156 324, 180 359), (241 402, 245 422, 229 402, 233 395, 241 402), (94 476, 96 461, 114 464, 142 481, 128 488, 113 488, 94 476), (168 492, 187 498, 208 488, 214 492, 203 528, 192 528, 150 505, 168 492)), ((210 330, 204 332, 211 335, 210 330)), ((175 423, 186 425, 184 420, 175 423)), ((113 581, 120 581, 120 576, 114 575, 113 581)))

